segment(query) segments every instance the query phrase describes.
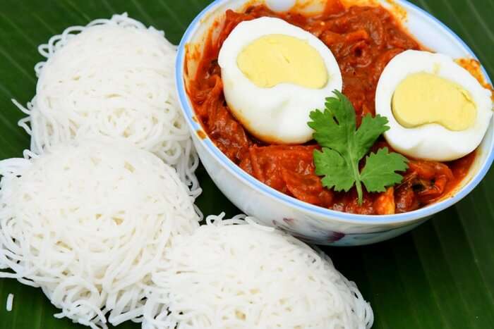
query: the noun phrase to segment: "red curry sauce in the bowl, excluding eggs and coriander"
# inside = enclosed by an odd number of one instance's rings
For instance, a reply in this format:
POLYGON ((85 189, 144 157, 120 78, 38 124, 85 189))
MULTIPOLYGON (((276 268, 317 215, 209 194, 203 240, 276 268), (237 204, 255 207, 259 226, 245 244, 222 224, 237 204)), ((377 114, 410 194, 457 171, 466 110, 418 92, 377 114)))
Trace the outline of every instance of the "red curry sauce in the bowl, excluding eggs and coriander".
MULTIPOLYGON (((475 154, 450 163, 409 159, 401 184, 383 193, 364 191, 363 204, 356 191, 335 192, 321 184, 314 173, 314 142, 303 145, 264 144, 246 132, 231 115, 224 100, 217 56, 231 30, 243 20, 262 16, 282 18, 320 38, 335 55, 343 76, 343 93, 353 103, 357 124, 367 113, 375 114, 375 88, 382 70, 406 49, 421 49, 393 15, 380 6, 344 8, 328 1, 317 17, 300 13, 275 13, 265 6, 251 6, 243 13, 227 11, 219 37, 210 34, 188 93, 203 128, 217 147, 247 173, 276 190, 310 204, 336 211, 390 214, 413 211, 445 196, 461 182, 475 154)), ((329 96, 329 95, 328 95, 329 96)), ((390 147, 378 140, 373 151, 390 147)))

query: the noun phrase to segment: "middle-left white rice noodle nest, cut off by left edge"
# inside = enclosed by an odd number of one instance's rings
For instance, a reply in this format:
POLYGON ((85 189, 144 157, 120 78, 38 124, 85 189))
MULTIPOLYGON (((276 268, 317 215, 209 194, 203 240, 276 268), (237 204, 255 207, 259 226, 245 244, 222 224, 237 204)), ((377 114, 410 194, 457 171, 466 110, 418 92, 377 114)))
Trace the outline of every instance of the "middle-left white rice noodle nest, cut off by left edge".
POLYGON ((127 142, 80 139, 0 161, 0 278, 41 287, 57 317, 140 321, 151 273, 198 228, 176 170, 127 142))

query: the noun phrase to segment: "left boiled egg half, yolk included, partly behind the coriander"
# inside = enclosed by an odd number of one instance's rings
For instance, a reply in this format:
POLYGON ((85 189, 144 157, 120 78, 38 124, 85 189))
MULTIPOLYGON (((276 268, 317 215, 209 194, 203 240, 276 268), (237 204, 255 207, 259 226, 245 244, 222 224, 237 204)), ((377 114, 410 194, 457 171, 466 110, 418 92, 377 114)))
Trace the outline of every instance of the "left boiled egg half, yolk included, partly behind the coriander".
POLYGON ((279 18, 237 25, 219 51, 231 113, 256 138, 301 144, 313 138, 309 113, 342 90, 330 49, 311 33, 279 18))

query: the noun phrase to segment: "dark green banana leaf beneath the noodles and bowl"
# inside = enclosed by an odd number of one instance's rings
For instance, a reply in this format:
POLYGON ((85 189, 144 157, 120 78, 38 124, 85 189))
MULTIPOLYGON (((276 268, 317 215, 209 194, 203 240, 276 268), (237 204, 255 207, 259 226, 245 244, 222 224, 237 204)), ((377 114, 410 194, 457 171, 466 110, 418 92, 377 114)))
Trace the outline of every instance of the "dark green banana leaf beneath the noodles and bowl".
MULTIPOLYGON (((18 127, 21 104, 35 94, 39 44, 71 25, 128 12, 166 31, 178 44, 208 0, 0 0, 0 159, 22 156, 28 135, 18 127)), ((493 0, 414 0, 457 32, 494 77, 493 0)), ((205 215, 239 211, 203 168, 198 170, 205 215)), ((372 304, 375 329, 494 328, 494 172, 456 206, 402 237, 367 247, 327 247, 335 266, 372 304)), ((41 290, 0 279, 0 329, 83 328, 53 317, 41 290), (14 294, 7 312, 8 294, 14 294)), ((120 328, 140 328, 124 323, 120 328)))

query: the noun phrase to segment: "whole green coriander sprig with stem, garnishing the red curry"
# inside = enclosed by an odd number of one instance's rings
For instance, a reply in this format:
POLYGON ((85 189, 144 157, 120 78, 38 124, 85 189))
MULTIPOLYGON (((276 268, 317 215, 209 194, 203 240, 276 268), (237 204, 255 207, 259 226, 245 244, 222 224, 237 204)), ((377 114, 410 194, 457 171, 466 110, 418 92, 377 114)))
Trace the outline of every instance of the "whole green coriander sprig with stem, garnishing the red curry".
POLYGON ((368 154, 378 137, 389 130, 387 118, 368 114, 356 129, 355 109, 341 92, 326 99, 325 111, 311 112, 308 123, 314 139, 323 148, 314 151, 315 173, 324 176, 325 187, 348 192, 356 185, 359 204, 363 202, 362 183, 368 192, 385 192, 386 187, 402 181, 396 173, 408 168, 401 154, 389 152, 387 147, 366 158, 366 166, 359 170, 359 161, 368 154))

